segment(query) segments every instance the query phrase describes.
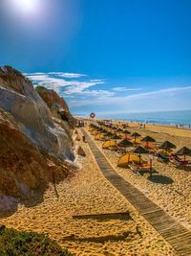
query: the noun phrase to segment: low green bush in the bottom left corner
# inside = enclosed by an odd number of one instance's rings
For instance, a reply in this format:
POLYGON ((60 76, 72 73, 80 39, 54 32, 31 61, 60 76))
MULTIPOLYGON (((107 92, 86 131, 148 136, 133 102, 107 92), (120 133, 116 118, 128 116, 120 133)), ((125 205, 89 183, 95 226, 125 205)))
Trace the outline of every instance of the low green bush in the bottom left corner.
POLYGON ((0 256, 72 256, 44 234, 19 232, 0 226, 0 256))

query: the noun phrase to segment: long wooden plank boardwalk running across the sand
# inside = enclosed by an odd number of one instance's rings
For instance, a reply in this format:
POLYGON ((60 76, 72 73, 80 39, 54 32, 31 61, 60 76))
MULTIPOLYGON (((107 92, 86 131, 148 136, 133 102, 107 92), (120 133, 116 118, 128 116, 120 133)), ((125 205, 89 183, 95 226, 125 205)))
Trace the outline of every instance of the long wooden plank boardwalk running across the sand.
POLYGON ((136 187, 124 180, 120 175, 117 175, 117 172, 108 162, 104 154, 99 151, 95 142, 83 128, 82 132, 86 136, 86 140, 95 155, 96 162, 102 174, 137 208, 138 213, 175 248, 179 255, 191 256, 191 231, 166 214, 156 203, 138 191, 136 187))

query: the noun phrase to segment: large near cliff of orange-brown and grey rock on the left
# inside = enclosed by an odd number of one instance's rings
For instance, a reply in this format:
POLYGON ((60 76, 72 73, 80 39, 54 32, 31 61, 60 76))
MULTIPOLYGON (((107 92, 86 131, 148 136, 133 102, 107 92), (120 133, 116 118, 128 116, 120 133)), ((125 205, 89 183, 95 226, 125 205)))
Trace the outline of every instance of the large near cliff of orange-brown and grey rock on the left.
POLYGON ((31 81, 10 66, 0 68, 0 213, 36 192, 43 197, 49 182, 71 173, 70 133, 67 122, 53 119, 31 81))

